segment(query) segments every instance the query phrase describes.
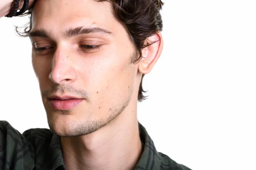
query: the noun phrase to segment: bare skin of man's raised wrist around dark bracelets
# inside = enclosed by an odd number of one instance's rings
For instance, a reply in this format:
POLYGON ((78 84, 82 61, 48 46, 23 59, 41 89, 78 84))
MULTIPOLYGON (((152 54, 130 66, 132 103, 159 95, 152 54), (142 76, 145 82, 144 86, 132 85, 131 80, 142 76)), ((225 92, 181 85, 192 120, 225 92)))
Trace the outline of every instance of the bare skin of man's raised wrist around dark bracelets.
MULTIPOLYGON (((29 0, 29 8, 31 8, 32 4, 34 3, 35 0, 29 0)), ((7 14, 9 14, 9 12, 12 9, 12 2, 13 0, 0 0, 0 17, 6 16, 7 14)), ((23 6, 23 0, 20 0, 19 3, 19 10, 22 8, 23 6)))

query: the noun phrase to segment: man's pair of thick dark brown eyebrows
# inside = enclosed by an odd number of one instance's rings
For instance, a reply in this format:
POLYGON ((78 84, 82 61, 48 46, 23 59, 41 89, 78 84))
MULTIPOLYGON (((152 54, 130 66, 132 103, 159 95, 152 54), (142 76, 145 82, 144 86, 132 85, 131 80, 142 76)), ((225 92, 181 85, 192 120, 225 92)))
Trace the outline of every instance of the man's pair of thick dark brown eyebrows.
MULTIPOLYGON (((62 35, 65 38, 70 38, 70 37, 75 37, 81 34, 89 34, 89 33, 96 33, 96 34, 102 34, 102 35, 107 35, 111 36, 113 33, 111 31, 108 31, 104 28, 100 27, 76 27, 76 28, 69 28, 67 29, 62 35)), ((31 31, 29 33, 29 37, 44 37, 44 38, 49 38, 51 39, 51 34, 45 30, 45 29, 37 29, 35 31, 31 31)))

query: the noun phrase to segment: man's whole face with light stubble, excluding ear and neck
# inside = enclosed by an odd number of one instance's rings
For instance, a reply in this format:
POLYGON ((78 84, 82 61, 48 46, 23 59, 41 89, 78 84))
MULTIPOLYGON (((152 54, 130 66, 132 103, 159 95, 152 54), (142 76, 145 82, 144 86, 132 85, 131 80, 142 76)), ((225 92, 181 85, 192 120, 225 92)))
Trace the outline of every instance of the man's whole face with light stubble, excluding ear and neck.
POLYGON ((33 68, 54 133, 92 133, 137 95, 134 46, 110 3, 37 0, 30 37, 33 68))

